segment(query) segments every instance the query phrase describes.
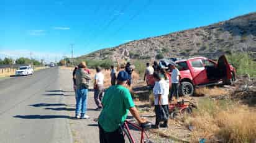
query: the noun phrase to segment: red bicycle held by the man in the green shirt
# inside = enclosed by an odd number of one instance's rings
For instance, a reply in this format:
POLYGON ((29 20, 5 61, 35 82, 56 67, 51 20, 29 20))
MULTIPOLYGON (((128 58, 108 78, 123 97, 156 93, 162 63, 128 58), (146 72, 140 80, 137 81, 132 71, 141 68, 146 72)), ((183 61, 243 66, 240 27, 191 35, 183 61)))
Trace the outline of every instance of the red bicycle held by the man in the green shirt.
POLYGON ((146 122, 144 124, 138 125, 138 124, 131 123, 127 120, 124 121, 124 125, 122 128, 124 132, 124 137, 126 141, 129 141, 130 143, 135 143, 135 139, 130 132, 129 125, 140 131, 140 143, 153 143, 152 141, 150 141, 149 135, 147 134, 147 129, 151 128, 152 123, 146 122))

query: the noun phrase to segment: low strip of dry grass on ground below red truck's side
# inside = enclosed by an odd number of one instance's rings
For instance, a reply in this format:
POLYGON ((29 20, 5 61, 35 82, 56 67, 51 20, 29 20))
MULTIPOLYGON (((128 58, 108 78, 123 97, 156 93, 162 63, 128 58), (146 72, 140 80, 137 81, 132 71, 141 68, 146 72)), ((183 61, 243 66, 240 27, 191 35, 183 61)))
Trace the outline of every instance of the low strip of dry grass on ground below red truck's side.
POLYGON ((202 88, 196 89, 195 93, 198 96, 208 95, 209 97, 216 97, 216 96, 220 96, 220 95, 228 95, 229 94, 229 92, 227 90, 221 89, 219 87, 213 87, 213 88, 202 87, 202 88))

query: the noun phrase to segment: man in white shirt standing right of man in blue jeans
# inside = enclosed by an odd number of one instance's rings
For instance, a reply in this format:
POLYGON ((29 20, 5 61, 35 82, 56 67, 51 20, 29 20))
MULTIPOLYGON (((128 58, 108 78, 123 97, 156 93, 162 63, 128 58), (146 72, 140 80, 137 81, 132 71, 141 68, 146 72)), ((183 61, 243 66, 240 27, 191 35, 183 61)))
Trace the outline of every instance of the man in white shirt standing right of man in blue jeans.
POLYGON ((94 77, 94 102, 98 106, 96 110, 101 110, 103 107, 101 105, 101 100, 103 98, 103 92, 104 92, 104 75, 101 72, 100 67, 96 67, 96 74, 94 77))

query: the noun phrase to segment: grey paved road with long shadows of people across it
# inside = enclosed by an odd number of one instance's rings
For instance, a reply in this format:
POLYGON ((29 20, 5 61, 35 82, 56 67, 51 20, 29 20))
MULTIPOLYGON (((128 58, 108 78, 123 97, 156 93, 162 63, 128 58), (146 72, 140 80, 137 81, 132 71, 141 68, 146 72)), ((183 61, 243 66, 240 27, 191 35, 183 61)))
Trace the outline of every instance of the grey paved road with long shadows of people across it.
POLYGON ((0 80, 0 142, 72 142, 59 72, 0 80))

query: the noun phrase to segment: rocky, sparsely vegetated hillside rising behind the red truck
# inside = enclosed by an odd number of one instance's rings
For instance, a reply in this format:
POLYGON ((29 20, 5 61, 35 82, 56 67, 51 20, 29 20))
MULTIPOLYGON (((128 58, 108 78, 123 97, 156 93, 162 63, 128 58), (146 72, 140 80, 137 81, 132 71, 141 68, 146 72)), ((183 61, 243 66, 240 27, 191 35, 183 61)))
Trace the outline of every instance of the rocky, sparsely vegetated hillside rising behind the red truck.
POLYGON ((250 52, 256 59, 256 12, 205 27, 130 41, 95 51, 80 59, 216 58, 224 53, 250 52))

